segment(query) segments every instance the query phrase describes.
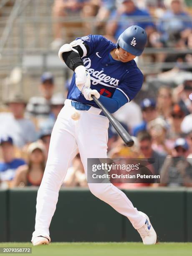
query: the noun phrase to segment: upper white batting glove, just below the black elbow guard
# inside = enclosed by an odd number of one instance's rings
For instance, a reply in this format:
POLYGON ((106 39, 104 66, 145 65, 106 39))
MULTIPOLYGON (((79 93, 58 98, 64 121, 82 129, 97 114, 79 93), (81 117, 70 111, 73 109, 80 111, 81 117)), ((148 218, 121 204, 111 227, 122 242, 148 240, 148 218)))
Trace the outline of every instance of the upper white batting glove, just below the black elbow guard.
POLYGON ((83 65, 76 67, 75 73, 76 86, 81 92, 84 86, 91 86, 90 74, 86 71, 86 68, 83 65))

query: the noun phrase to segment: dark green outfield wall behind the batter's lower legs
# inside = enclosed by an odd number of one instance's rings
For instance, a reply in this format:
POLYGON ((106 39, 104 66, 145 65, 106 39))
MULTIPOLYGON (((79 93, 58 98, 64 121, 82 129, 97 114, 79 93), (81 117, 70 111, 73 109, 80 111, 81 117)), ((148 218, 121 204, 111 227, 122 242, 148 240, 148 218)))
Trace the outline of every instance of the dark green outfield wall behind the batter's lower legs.
MULTIPOLYGON (((192 241, 192 189, 123 190, 149 216, 158 240, 192 241)), ((0 190, 0 241, 30 241, 35 225, 37 189, 0 190)), ((50 226, 53 242, 141 241, 129 220, 88 189, 61 189, 50 226)))

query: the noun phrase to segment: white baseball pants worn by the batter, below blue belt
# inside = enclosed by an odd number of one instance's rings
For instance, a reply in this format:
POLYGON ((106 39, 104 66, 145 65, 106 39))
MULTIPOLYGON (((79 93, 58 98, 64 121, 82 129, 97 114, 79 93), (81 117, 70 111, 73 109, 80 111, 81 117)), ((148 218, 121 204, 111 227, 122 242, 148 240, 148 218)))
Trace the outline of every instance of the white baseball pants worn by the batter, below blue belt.
MULTIPOLYGON (((53 128, 48 161, 38 189, 33 238, 49 238, 49 226, 56 210, 58 192, 77 152, 80 153, 86 174, 88 158, 107 158, 109 120, 99 115, 100 112, 100 109, 94 107, 88 111, 76 110, 71 106, 71 100, 65 101, 53 128), (80 113, 79 120, 71 118, 74 111, 80 113)), ((139 215, 126 195, 113 184, 90 183, 88 187, 93 195, 129 218, 134 228, 144 225, 145 218, 139 215)))

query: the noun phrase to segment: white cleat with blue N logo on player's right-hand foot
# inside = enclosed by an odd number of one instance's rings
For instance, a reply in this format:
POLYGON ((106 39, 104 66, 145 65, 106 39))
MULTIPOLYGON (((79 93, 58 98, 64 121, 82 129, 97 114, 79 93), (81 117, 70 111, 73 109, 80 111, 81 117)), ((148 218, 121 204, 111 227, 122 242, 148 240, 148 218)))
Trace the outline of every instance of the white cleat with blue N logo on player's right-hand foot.
POLYGON ((146 245, 155 244, 157 241, 157 234, 150 223, 149 217, 144 212, 139 213, 146 218, 145 224, 141 228, 137 229, 143 243, 146 245))

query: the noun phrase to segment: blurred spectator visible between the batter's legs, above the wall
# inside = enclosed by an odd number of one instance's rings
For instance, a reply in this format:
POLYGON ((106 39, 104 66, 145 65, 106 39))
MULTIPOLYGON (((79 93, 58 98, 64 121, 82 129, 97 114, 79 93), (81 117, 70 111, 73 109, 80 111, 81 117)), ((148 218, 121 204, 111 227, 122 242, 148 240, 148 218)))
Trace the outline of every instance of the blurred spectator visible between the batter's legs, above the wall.
POLYGON ((63 186, 87 187, 86 174, 79 154, 77 154, 73 159, 73 164, 67 171, 67 175, 63 181, 63 186))

